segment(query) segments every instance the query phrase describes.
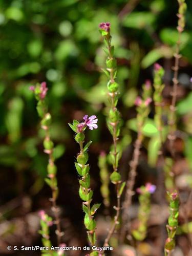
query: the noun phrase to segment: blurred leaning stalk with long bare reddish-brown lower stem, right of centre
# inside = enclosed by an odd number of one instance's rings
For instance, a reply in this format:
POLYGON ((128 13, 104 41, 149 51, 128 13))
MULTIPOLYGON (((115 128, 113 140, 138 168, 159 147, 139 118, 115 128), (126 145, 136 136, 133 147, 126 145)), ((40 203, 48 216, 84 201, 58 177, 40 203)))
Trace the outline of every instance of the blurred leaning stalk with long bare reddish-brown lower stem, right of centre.
POLYGON ((122 229, 121 229, 121 236, 120 241, 123 243, 126 231, 129 229, 129 208, 132 203, 132 196, 134 195, 134 184, 135 184, 135 177, 136 177, 136 169, 139 162, 139 155, 140 155, 140 147, 143 141, 143 133, 142 127, 144 122, 150 113, 150 103, 152 102, 151 99, 151 83, 148 81, 145 82, 143 85, 143 94, 142 98, 137 97, 135 104, 137 105, 137 140, 135 142, 135 149, 133 153, 133 158, 130 162, 130 172, 129 177, 126 182, 126 193, 125 193, 125 200, 123 204, 123 212, 122 212, 122 229))

